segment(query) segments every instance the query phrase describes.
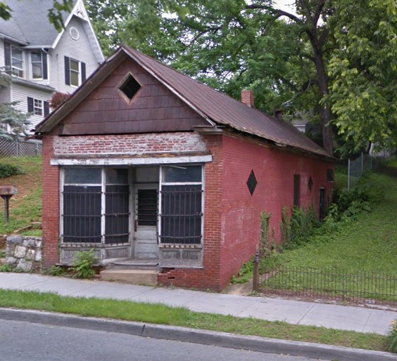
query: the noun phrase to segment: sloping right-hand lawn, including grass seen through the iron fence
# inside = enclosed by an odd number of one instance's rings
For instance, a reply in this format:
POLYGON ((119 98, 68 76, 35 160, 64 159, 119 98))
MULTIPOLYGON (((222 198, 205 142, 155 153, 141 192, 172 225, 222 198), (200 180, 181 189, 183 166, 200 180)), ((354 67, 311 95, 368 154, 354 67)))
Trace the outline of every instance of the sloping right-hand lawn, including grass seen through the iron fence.
POLYGON ((385 193, 370 212, 338 223, 333 232, 320 228, 307 243, 263 258, 263 272, 277 270, 263 288, 397 303, 397 162, 384 171, 367 178, 372 190, 385 193))

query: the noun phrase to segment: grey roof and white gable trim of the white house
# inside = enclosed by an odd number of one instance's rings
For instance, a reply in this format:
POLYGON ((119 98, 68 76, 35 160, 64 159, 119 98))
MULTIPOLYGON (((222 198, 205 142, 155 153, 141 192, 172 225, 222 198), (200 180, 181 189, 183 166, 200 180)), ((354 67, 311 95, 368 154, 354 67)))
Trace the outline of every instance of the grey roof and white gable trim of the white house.
MULTIPOLYGON (((65 29, 58 32, 49 22, 48 11, 53 7, 53 0, 2 0, 12 10, 11 19, 0 19, 0 36, 11 41, 15 41, 21 46, 27 48, 55 48, 65 29)), ((101 63, 104 58, 101 52, 99 42, 95 37, 94 29, 89 22, 87 11, 85 11, 82 0, 74 0, 74 6, 70 13, 62 13, 65 27, 77 15, 83 20, 84 29, 86 29, 89 41, 96 58, 101 63), (92 34, 89 34, 92 32, 92 34)))

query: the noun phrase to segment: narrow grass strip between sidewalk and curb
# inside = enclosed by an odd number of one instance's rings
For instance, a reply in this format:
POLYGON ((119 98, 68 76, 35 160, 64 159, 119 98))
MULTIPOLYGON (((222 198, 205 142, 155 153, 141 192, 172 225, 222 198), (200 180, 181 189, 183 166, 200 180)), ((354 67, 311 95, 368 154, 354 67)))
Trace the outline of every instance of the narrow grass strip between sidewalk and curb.
POLYGON ((115 320, 167 324, 232 334, 386 351, 386 336, 378 334, 363 334, 279 321, 270 322, 252 317, 242 318, 197 313, 187 308, 170 307, 162 304, 102 298, 76 298, 37 291, 0 289, 0 307, 45 310, 81 316, 106 317, 115 320))

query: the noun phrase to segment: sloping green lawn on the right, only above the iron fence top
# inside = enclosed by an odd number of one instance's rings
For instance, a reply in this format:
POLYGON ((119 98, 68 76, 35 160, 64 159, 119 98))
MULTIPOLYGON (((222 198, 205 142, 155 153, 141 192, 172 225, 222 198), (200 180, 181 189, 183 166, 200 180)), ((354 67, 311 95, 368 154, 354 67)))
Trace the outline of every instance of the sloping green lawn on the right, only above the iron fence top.
POLYGON ((302 247, 277 254, 280 263, 397 276, 397 178, 372 173, 368 181, 371 187, 384 188, 382 202, 373 204, 371 212, 341 225, 332 235, 316 235, 302 247))

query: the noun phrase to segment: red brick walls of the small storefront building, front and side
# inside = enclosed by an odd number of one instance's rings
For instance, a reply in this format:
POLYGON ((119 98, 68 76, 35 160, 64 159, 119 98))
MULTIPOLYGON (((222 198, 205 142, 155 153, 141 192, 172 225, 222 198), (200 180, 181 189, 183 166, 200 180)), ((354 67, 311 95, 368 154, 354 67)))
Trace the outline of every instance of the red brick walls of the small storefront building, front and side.
POLYGON ((332 164, 271 148, 239 136, 196 133, 153 133, 121 136, 45 136, 43 149, 44 265, 59 261, 59 170, 50 165, 56 155, 194 152, 209 150, 213 162, 205 166, 203 268, 165 269, 158 282, 176 287, 220 291, 236 275, 241 263, 256 251, 260 237, 260 211, 272 214, 270 226, 280 241, 282 206, 292 206, 294 174, 301 176, 301 206, 318 208, 319 188, 327 197, 327 169, 332 164), (258 185, 251 196, 246 182, 254 171, 258 185), (309 178, 313 180, 308 190, 309 178))

